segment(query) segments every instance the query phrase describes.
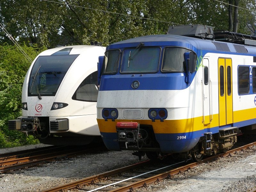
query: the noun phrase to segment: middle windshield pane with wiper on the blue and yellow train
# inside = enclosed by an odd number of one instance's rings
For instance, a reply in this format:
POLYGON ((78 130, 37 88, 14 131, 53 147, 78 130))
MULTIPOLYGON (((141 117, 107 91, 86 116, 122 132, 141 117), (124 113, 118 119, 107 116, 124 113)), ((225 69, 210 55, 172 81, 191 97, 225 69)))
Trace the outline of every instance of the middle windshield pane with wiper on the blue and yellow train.
POLYGON ((156 73, 158 71, 161 48, 124 49, 121 73, 156 73))

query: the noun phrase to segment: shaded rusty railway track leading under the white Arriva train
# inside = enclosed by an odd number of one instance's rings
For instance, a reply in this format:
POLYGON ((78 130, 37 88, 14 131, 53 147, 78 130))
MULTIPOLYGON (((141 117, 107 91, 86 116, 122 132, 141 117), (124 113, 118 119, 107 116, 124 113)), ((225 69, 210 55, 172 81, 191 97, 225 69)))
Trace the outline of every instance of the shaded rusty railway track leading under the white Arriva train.
POLYGON ((0 155, 0 173, 41 165, 56 160, 67 159, 84 153, 102 150, 103 145, 48 146, 32 150, 22 150, 0 155))

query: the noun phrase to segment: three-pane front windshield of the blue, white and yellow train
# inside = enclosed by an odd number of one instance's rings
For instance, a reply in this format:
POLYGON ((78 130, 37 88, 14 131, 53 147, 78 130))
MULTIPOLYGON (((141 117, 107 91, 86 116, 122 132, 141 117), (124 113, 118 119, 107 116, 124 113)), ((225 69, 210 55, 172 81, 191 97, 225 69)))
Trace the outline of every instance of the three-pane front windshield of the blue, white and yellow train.
MULTIPOLYGON (((180 47, 165 47, 161 71, 167 73, 186 72, 185 52, 192 51, 180 47)), ((105 53, 105 65, 102 72, 103 74, 115 74, 121 59, 120 73, 122 74, 156 73, 160 54, 160 47, 124 49, 123 52, 120 52, 119 49, 110 50, 105 53)))

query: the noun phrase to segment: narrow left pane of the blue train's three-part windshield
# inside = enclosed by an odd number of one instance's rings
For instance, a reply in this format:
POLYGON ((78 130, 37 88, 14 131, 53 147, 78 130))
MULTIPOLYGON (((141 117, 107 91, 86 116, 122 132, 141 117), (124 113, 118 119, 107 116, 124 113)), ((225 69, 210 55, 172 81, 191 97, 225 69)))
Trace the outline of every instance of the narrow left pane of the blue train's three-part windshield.
POLYGON ((115 74, 119 63, 120 50, 110 50, 105 53, 105 65, 103 65, 103 74, 115 74))

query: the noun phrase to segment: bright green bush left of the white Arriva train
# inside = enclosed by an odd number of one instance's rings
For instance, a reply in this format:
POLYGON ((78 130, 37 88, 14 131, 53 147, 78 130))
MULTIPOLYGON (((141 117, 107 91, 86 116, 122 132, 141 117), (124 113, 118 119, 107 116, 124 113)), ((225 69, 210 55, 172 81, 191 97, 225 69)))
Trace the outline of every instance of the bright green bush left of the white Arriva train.
MULTIPOLYGON (((31 60, 45 48, 21 45, 31 60)), ((35 144, 39 141, 18 131, 8 130, 8 120, 21 116, 21 91, 31 63, 16 46, 0 45, 0 148, 35 144)))

